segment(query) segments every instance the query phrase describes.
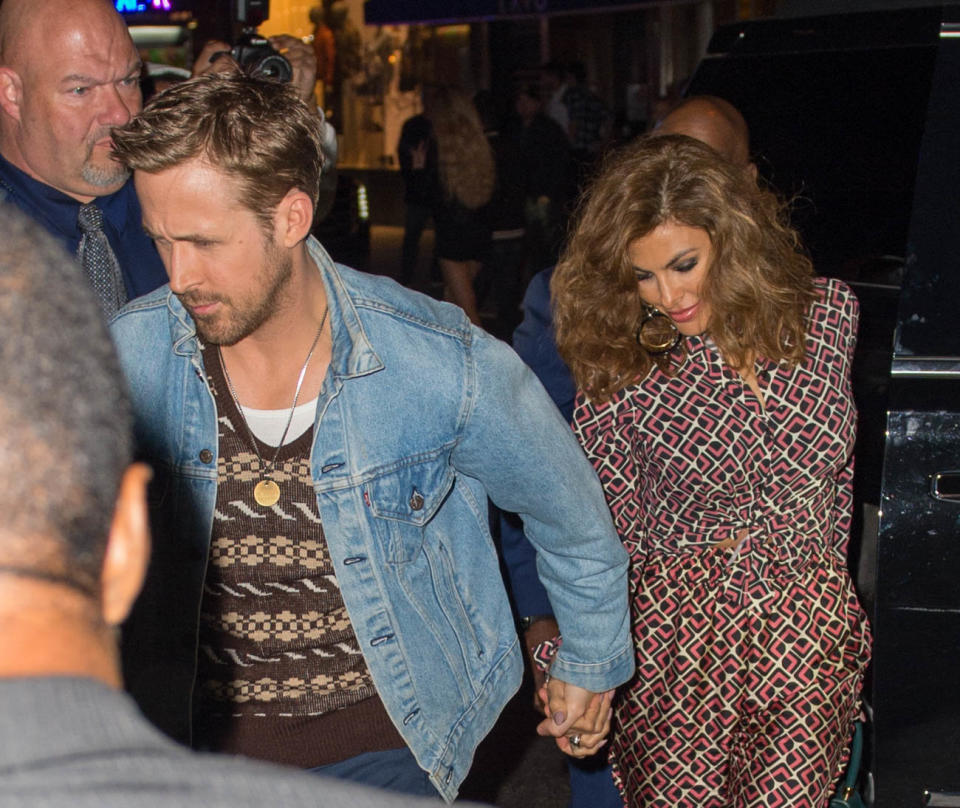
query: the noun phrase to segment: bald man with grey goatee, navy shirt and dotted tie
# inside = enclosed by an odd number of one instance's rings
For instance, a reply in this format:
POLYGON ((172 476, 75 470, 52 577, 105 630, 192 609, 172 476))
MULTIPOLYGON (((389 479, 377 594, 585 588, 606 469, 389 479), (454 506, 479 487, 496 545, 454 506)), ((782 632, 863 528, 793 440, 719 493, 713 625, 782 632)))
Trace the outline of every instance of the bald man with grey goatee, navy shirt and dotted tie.
POLYGON ((129 172, 110 154, 113 128, 140 111, 140 70, 110 0, 0 5, 0 197, 81 259, 96 242, 106 315, 166 282, 129 172))

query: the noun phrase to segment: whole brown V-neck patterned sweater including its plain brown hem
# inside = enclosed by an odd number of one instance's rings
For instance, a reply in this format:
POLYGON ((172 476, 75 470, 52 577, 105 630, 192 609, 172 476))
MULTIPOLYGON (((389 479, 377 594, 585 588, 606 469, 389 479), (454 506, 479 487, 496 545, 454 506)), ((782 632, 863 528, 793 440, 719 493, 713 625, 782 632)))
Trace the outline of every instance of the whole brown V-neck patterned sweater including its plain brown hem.
POLYGON ((204 581, 194 745, 308 768, 404 745, 377 696, 327 550, 313 429, 280 449, 276 505, 253 497, 276 448, 250 445, 215 347, 217 502, 204 581))

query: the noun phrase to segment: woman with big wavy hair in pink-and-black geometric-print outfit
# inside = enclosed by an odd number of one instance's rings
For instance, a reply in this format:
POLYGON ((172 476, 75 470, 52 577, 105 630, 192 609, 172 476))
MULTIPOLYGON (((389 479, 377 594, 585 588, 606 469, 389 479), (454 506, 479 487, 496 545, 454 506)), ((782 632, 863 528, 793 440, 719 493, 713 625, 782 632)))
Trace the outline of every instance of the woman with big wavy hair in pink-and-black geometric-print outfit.
POLYGON ((826 805, 870 644, 845 558, 856 299, 774 194, 677 135, 606 161, 552 290, 632 558, 626 804, 826 805))

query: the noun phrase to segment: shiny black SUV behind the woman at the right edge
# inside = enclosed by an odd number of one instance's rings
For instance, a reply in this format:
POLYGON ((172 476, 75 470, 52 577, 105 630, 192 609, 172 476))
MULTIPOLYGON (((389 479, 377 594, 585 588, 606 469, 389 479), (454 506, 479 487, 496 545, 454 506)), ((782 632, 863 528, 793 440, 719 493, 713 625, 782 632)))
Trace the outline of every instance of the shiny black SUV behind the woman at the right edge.
POLYGON ((743 112, 818 273, 860 298, 863 785, 877 808, 960 806, 960 7, 727 25, 687 94, 743 112))

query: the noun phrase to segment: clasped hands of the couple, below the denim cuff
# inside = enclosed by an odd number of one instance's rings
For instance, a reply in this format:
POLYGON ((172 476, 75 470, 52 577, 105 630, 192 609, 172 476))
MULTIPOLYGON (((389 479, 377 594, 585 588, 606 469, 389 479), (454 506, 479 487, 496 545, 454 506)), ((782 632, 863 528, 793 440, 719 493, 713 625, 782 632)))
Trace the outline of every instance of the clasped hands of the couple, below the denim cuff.
POLYGON ((538 735, 552 735, 562 752, 576 758, 589 757, 606 745, 613 690, 593 693, 550 678, 538 695, 546 716, 537 725, 538 735))

